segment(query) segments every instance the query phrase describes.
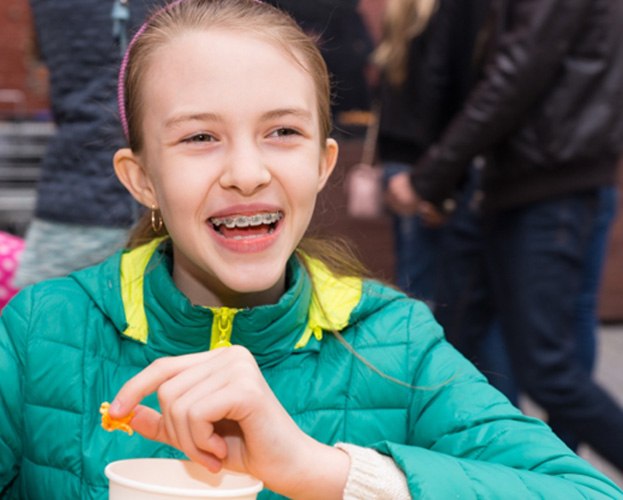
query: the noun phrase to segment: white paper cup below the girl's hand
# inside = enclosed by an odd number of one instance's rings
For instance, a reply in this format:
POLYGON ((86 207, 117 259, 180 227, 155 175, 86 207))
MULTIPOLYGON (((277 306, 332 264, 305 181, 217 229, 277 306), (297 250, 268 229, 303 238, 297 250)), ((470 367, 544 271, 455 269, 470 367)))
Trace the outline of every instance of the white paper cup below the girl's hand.
POLYGON ((188 460, 136 458, 106 466, 110 500, 183 500, 228 498, 253 500, 263 484, 228 470, 214 474, 188 460))

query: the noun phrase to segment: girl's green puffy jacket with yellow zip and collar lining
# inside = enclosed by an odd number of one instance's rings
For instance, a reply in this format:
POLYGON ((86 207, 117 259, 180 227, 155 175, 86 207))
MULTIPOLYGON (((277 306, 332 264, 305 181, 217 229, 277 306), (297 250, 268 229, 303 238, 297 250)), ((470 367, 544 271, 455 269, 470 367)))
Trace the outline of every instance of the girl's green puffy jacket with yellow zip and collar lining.
MULTIPOLYGON (((229 342, 254 354, 306 433, 390 454, 414 498, 623 497, 545 424, 489 386, 444 340, 424 304, 373 281, 336 279, 318 261, 294 257, 288 290, 275 305, 193 306, 175 287, 162 248, 119 253, 35 285, 4 310, 4 498, 107 498, 107 463, 181 456, 136 434, 106 432, 99 406, 159 357, 229 342), (330 330, 341 331, 368 363, 330 330)), ((155 396, 147 404, 156 406, 155 396)))

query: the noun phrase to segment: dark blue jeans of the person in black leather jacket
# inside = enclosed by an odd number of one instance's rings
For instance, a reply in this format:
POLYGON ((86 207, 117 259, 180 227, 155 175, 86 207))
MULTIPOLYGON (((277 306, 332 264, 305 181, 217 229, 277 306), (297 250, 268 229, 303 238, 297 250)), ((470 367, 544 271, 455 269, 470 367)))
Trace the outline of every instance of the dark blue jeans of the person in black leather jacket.
POLYGON ((576 355, 598 190, 483 219, 487 276, 513 373, 564 431, 623 470, 623 410, 576 355))

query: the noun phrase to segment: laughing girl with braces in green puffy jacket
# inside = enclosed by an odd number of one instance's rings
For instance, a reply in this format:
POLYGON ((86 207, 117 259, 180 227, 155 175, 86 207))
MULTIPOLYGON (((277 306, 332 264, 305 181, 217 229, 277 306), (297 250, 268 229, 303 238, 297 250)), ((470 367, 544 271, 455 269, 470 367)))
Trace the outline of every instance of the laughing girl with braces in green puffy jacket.
POLYGON ((120 80, 115 171, 152 231, 3 314, 9 498, 105 498, 108 462, 184 455, 257 476, 262 498, 621 493, 490 387, 425 305, 301 243, 337 145, 326 67, 287 16, 175 2, 120 80), (113 396, 142 436, 100 427, 113 396))

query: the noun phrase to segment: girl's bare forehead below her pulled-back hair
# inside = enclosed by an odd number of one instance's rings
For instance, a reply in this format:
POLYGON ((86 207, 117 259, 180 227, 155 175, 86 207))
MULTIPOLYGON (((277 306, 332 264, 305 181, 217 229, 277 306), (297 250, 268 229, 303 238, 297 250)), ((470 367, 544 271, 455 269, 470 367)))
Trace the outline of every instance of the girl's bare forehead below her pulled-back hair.
POLYGON ((256 99, 311 99, 315 106, 314 80, 300 61, 293 51, 260 34, 193 30, 151 54, 142 87, 149 105, 163 94, 199 103, 216 94, 227 101, 252 93, 256 99))

